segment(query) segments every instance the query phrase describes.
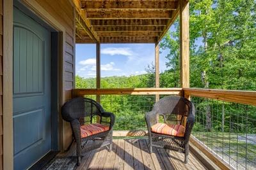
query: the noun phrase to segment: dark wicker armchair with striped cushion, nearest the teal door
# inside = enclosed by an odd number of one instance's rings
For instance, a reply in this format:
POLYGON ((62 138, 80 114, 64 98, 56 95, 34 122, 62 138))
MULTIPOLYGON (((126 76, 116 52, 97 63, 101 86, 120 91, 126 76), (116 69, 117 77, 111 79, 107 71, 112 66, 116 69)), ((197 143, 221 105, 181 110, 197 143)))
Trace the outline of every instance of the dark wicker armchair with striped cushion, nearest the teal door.
POLYGON ((78 166, 81 162, 81 153, 108 145, 109 152, 112 150, 115 115, 104 111, 99 103, 92 99, 77 97, 63 105, 61 115, 64 120, 71 124, 73 136, 77 144, 78 166), (93 124, 96 116, 100 117, 100 124, 93 124), (96 127, 96 131, 92 129, 93 127, 96 127))

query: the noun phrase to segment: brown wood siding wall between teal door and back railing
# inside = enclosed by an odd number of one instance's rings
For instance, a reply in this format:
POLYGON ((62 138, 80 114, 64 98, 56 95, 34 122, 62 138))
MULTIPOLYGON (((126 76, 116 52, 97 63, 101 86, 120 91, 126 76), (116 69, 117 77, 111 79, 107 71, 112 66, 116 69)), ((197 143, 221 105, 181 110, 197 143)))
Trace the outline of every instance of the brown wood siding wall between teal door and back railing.
MULTIPOLYGON (((52 0, 36 0, 42 8, 44 8, 52 17, 54 17, 58 22, 60 22, 63 27, 65 27, 65 56, 63 56, 63 90, 64 92, 64 101, 67 101, 72 97, 72 88, 74 87, 74 78, 75 78, 75 63, 74 63, 74 54, 75 54, 75 35, 74 35, 74 6, 68 0, 52 1, 52 0)), ((70 142, 72 141, 72 131, 70 124, 63 121, 63 129, 61 132, 63 139, 62 147, 60 149, 66 150, 70 142)))

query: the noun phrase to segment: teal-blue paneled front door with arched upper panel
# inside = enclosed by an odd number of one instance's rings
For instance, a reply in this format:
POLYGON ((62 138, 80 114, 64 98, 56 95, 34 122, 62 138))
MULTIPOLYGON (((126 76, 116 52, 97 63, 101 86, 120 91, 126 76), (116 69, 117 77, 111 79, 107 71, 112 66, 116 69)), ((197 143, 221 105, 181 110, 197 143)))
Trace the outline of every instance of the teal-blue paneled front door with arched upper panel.
POLYGON ((51 32, 13 8, 14 169, 51 150, 51 32))

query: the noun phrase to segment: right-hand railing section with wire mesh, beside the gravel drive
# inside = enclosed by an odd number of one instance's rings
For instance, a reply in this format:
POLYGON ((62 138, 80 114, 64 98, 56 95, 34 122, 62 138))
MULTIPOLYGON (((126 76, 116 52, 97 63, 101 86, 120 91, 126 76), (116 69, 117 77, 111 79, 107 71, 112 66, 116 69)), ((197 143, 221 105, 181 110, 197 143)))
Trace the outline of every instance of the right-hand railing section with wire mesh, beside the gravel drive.
POLYGON ((184 89, 195 104, 193 137, 233 169, 256 169, 256 93, 184 89))

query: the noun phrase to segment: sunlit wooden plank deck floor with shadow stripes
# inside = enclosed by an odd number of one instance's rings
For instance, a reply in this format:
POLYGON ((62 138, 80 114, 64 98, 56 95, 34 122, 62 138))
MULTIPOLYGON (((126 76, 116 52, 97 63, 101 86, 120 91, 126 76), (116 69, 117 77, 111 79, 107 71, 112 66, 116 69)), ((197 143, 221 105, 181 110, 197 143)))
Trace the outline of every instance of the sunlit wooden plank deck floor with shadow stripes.
MULTIPOLYGON (((75 155, 75 147, 60 155, 75 155)), ((182 153, 155 147, 153 152, 148 152, 146 139, 114 139, 112 152, 107 148, 88 152, 77 169, 207 169, 193 153, 189 153, 188 164, 184 164, 182 153)))

